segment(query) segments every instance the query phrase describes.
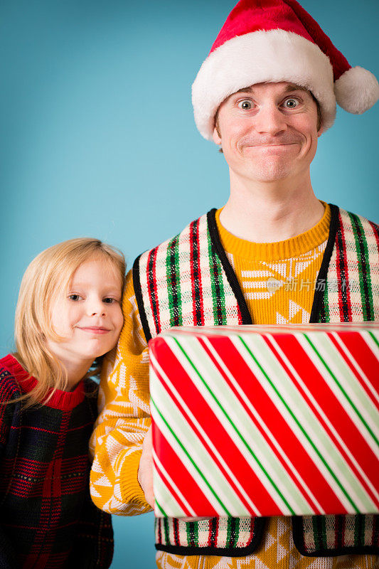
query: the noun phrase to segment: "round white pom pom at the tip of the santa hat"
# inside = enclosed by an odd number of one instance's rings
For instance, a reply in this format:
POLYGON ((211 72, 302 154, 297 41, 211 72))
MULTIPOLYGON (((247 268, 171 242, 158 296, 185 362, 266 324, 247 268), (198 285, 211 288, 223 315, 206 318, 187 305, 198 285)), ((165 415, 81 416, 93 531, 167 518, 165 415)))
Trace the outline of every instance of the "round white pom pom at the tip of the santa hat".
POLYGON ((379 84, 373 73, 362 67, 345 71, 334 83, 338 105, 354 115, 361 115, 379 99, 379 84))

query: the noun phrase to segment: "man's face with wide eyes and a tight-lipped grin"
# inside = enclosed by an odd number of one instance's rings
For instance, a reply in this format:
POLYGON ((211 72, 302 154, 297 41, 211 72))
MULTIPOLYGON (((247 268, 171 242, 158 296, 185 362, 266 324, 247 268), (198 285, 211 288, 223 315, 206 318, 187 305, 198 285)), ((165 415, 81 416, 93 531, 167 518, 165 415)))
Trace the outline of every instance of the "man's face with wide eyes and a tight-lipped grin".
POLYGON ((221 103, 213 140, 237 176, 269 182, 309 172, 321 131, 309 91, 257 83, 221 103))

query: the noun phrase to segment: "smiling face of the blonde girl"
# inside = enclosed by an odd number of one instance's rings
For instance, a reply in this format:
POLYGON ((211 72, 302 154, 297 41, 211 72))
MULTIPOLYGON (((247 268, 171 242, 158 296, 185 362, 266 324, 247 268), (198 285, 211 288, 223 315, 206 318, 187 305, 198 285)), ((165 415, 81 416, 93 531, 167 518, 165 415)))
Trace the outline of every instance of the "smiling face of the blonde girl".
POLYGON ((110 351, 122 329, 122 282, 104 260, 82 263, 68 292, 53 302, 51 323, 63 341, 48 340, 48 347, 67 369, 89 368, 98 356, 110 351))

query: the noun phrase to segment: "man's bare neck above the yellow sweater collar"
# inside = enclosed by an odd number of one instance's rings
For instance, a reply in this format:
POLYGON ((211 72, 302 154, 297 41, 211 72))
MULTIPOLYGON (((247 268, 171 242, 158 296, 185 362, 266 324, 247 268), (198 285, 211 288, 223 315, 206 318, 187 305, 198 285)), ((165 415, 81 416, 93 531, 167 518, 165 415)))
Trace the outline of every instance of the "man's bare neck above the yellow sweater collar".
POLYGON ((270 183, 243 181, 230 172, 230 198, 220 222, 238 238, 274 243, 300 235, 321 220, 324 206, 309 176, 270 183))

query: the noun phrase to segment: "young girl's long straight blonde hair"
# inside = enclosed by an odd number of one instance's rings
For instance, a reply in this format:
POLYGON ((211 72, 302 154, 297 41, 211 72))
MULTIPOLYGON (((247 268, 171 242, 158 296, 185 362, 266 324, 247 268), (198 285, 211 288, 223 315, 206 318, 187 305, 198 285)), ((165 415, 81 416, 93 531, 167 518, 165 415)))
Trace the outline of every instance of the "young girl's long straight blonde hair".
POLYGON ((77 238, 63 241, 41 252, 28 266, 21 281, 16 306, 14 356, 21 366, 38 378, 27 399, 26 406, 41 403, 56 389, 66 389, 65 369, 50 352, 46 339, 60 341, 51 324, 52 304, 59 294, 66 294, 75 270, 88 260, 104 260, 108 269, 120 278, 123 289, 125 278, 124 255, 98 239, 77 238))

